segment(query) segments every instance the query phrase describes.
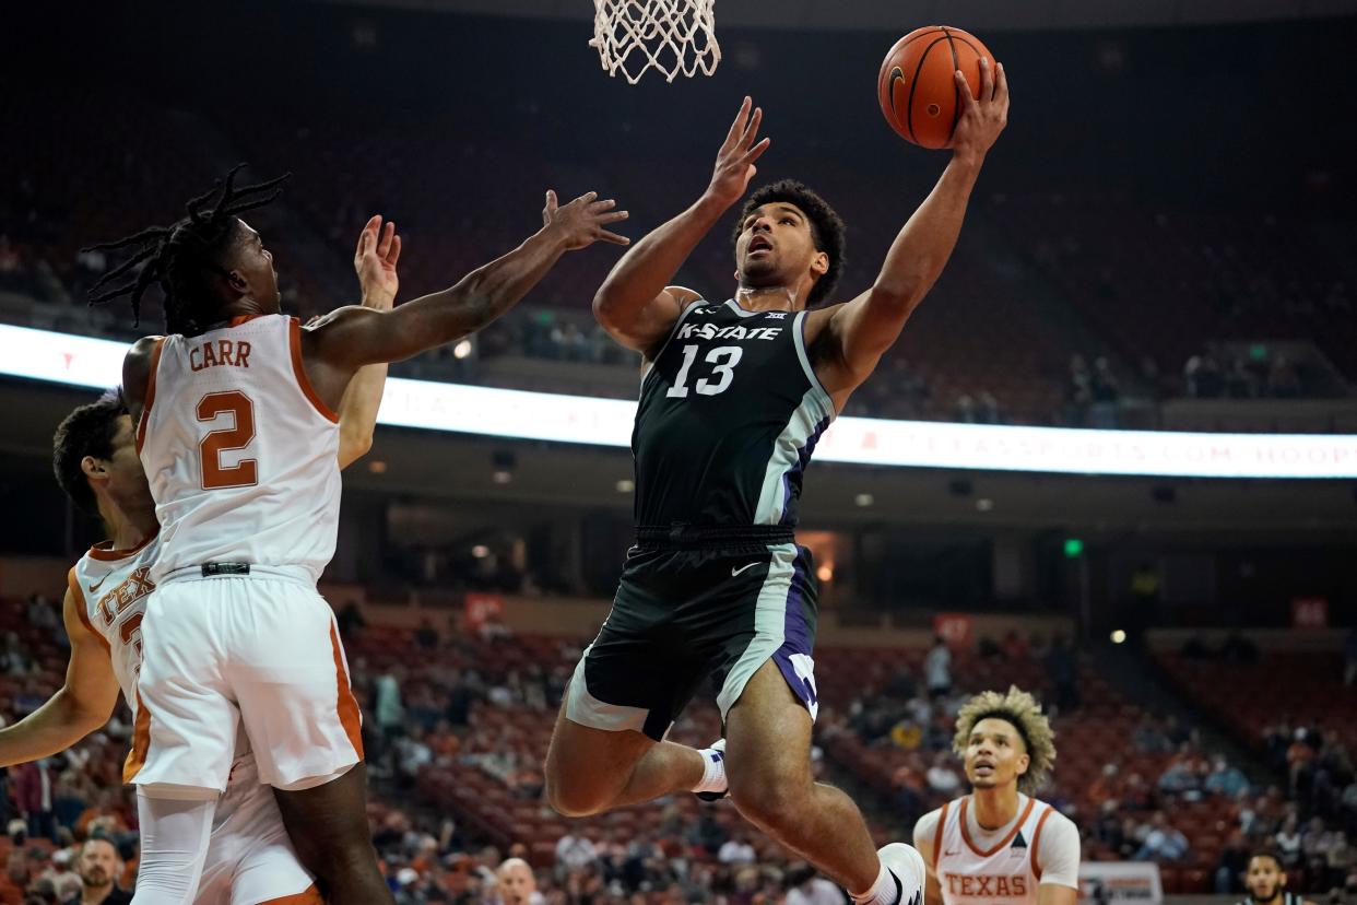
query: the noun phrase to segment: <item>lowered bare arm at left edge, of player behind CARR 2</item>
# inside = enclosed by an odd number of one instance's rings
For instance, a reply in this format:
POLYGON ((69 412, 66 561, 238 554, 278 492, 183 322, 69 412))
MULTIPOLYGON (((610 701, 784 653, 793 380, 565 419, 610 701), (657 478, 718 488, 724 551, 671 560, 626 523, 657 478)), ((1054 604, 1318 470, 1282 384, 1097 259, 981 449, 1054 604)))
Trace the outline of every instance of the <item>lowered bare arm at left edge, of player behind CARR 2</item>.
POLYGON ((76 600, 66 590, 62 606, 71 636, 66 684, 47 703, 14 726, 0 729, 0 767, 50 757, 109 722, 118 703, 118 678, 109 649, 76 615, 76 600))

